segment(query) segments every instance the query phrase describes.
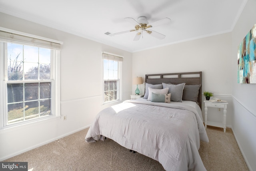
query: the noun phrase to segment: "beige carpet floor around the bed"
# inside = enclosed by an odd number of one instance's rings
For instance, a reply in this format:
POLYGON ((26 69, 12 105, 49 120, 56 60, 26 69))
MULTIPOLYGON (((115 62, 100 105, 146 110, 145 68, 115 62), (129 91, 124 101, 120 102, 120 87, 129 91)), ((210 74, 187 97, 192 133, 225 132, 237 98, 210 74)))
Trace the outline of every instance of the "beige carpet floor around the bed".
MULTIPOLYGON (((140 153, 132 153, 111 139, 86 143, 83 129, 5 161, 26 161, 29 171, 162 171, 162 165, 140 153)), ((208 171, 248 171, 230 128, 208 126, 210 142, 199 149, 208 171)))

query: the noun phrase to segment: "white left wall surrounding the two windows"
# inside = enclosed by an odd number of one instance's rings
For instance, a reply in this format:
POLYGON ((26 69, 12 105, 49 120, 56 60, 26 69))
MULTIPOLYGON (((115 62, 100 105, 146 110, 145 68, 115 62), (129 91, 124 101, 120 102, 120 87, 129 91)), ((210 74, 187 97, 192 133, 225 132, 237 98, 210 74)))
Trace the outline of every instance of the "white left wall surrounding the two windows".
MULTIPOLYGON (((0 27, 64 42, 60 53, 60 117, 0 130, 0 161, 88 127, 103 108, 103 51, 124 56, 123 99, 132 90, 132 53, 0 13, 0 27)), ((85 135, 84 135, 85 137, 85 135)))

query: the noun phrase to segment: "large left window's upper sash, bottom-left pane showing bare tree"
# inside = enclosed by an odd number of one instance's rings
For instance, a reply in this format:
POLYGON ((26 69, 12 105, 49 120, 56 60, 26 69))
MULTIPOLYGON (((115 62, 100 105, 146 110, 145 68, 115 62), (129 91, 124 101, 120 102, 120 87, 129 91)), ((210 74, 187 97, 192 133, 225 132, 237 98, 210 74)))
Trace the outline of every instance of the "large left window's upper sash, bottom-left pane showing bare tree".
POLYGON ((8 61, 8 80, 23 79, 23 63, 17 61, 8 61))

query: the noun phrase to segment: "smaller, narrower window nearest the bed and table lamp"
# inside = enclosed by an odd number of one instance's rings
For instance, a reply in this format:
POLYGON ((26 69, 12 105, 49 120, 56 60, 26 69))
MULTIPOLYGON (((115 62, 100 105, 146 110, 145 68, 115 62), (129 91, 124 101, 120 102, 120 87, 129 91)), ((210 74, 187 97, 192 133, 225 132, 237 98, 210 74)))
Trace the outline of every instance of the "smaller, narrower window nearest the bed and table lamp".
POLYGON ((123 58, 103 53, 104 103, 121 99, 121 66, 123 58))

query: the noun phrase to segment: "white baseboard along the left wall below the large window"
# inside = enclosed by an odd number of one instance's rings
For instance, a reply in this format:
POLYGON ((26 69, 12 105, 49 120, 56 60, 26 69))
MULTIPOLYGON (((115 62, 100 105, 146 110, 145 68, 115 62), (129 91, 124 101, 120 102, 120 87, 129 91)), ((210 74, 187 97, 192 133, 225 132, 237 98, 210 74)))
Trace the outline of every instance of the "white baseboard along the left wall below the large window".
MULTIPOLYGON (((14 156, 16 156, 16 155, 25 153, 26 151, 30 151, 30 150, 35 149, 35 148, 37 148, 37 147, 41 147, 42 145, 46 145, 46 144, 48 144, 48 143, 51 143, 51 142, 53 142, 53 141, 56 141, 57 139, 66 137, 66 136, 68 136, 68 135, 71 135, 71 134, 73 134, 73 133, 76 133, 76 132, 81 131, 81 130, 83 130, 83 129, 86 129, 86 128, 88 128, 88 127, 90 127, 90 125, 87 125, 87 126, 85 126, 85 127, 82 127, 82 128, 80 128, 80 129, 76 129, 76 130, 71 131, 71 132, 69 132, 69 133, 65 133, 65 134, 63 134, 63 135, 60 135, 60 136, 55 137, 55 138, 53 138, 53 139, 49 139, 48 141, 44 141, 44 142, 42 142, 42 143, 33 145, 32 147, 29 147, 29 148, 26 148, 26 149, 17 151, 17 152, 15 152, 15 153, 10 154, 10 155, 4 156, 4 157, 0 158, 0 161, 4 161, 4 160, 9 159, 9 158, 11 158, 11 157, 14 157, 14 156)), ((84 135, 84 138, 85 138, 85 135, 84 135)), ((84 140, 84 141, 85 141, 85 140, 84 140)))

